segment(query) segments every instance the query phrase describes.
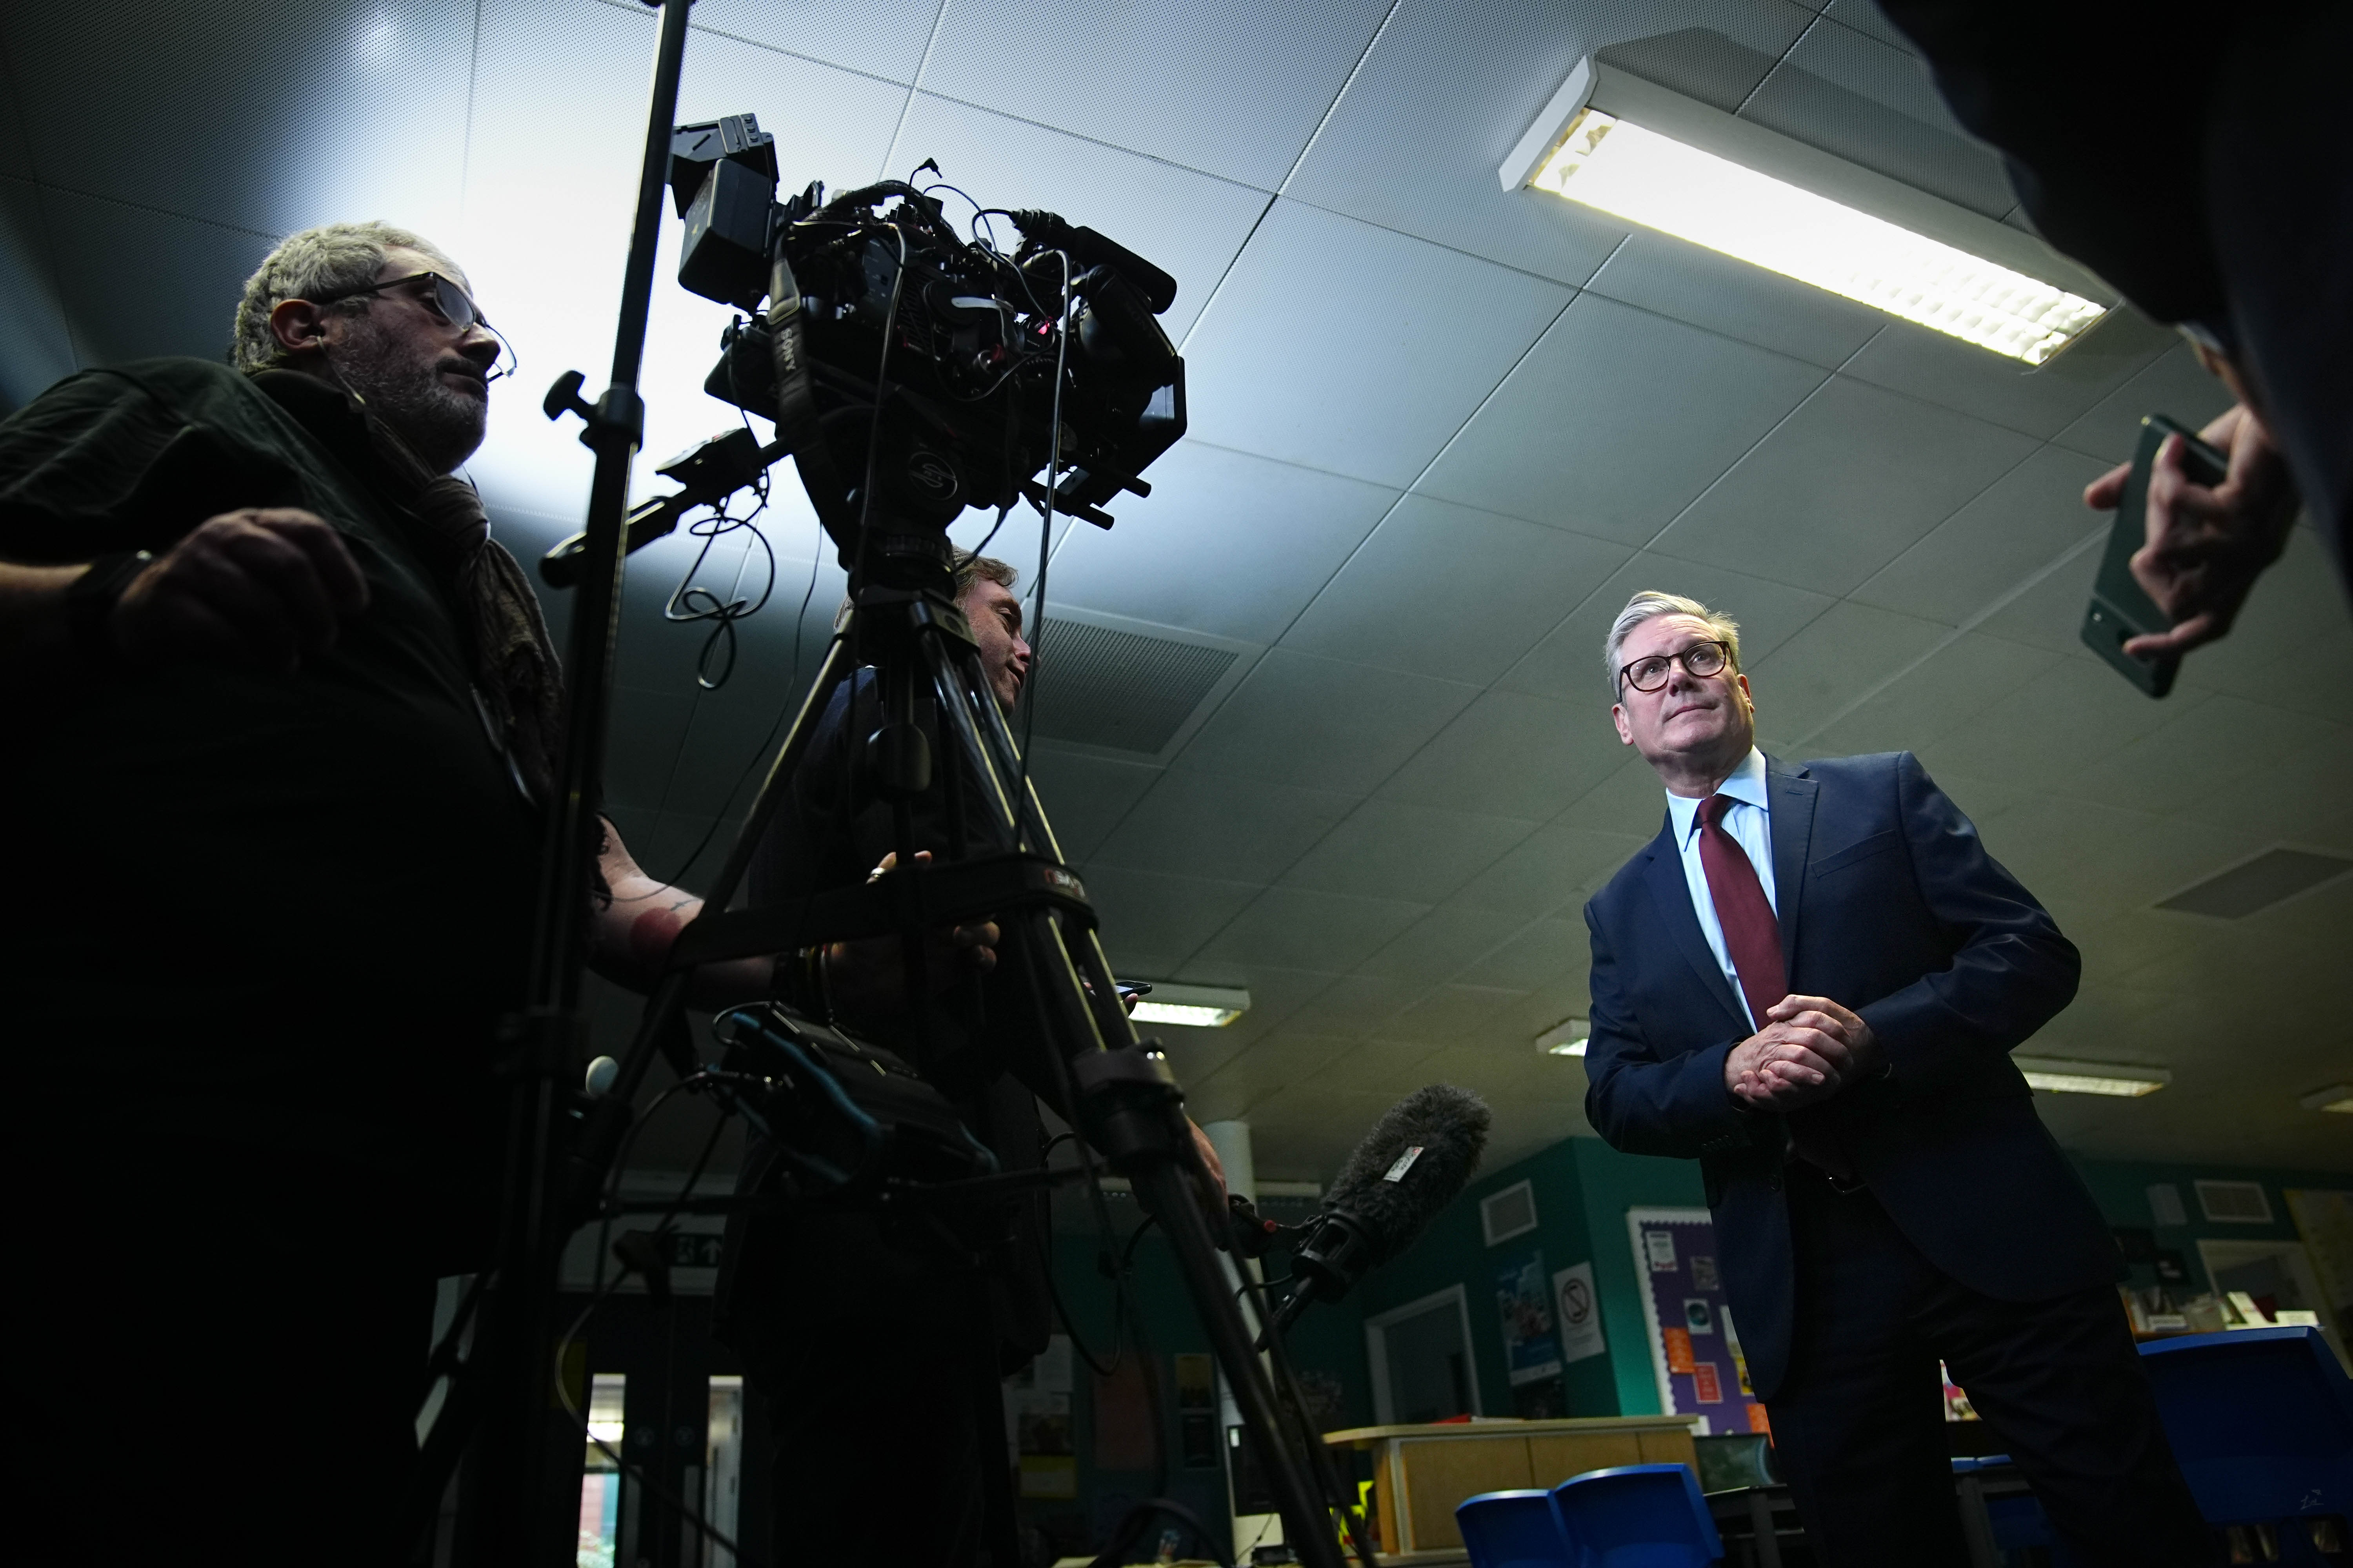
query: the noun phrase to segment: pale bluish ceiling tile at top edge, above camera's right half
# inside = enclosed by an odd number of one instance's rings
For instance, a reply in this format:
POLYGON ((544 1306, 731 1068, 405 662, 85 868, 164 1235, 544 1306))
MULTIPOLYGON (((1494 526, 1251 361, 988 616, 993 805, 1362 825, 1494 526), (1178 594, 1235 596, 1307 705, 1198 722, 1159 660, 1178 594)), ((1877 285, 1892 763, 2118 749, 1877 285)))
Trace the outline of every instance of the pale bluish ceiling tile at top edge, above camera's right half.
POLYGON ((922 85, 1275 190, 1388 0, 958 0, 922 85))

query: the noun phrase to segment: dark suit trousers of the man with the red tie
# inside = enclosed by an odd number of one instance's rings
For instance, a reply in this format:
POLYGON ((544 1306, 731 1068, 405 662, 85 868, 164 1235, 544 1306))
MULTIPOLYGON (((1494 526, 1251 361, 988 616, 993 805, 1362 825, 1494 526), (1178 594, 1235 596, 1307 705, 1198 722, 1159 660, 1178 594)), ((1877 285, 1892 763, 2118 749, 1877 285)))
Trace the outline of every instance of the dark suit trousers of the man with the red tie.
POLYGON ((1824 1568, 1967 1563, 1939 1359, 2080 1561, 2221 1561, 2113 1286, 1981 1295, 1922 1258, 1868 1190, 1835 1192, 1812 1166, 1791 1166, 1788 1208, 1798 1328, 1767 1410, 1824 1568))

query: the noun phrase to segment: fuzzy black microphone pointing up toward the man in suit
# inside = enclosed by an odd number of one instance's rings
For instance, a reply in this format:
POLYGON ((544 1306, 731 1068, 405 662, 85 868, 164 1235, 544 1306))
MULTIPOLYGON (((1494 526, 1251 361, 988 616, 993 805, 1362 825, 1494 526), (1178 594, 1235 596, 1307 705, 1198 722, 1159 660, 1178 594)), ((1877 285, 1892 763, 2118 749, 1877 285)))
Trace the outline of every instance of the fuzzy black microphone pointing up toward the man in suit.
POLYGON ((1275 1331, 1308 1302, 1337 1302, 1358 1279, 1412 1246, 1471 1182, 1494 1112, 1468 1088, 1431 1084, 1372 1126, 1292 1248, 1292 1288, 1275 1331))

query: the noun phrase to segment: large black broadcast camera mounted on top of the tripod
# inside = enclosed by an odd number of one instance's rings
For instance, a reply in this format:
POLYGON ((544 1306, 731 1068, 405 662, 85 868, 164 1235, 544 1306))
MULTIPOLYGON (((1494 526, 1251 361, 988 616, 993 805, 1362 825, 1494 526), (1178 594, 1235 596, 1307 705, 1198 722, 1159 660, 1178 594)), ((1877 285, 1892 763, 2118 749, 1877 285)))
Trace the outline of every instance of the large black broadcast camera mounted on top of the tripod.
POLYGON ((776 421, 854 574, 934 576, 967 505, 1028 498, 1111 527, 1101 505, 1151 494, 1139 475, 1184 435, 1184 360, 1153 320, 1176 280, 1092 228, 988 212, 965 240, 906 181, 776 202, 753 115, 678 127, 671 193, 678 282, 753 313, 704 390, 776 421), (979 237, 988 216, 1019 249, 979 237))

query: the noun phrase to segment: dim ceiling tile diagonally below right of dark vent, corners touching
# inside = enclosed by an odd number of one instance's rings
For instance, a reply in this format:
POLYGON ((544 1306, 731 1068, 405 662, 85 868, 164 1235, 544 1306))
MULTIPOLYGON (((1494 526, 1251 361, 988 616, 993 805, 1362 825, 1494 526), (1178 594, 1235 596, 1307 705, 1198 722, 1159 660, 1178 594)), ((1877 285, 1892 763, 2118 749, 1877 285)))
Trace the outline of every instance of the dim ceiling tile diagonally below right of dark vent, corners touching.
POLYGON ((1165 773, 1096 858, 1233 882, 1275 882, 1358 804, 1355 795, 1165 773))

